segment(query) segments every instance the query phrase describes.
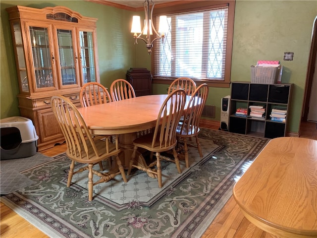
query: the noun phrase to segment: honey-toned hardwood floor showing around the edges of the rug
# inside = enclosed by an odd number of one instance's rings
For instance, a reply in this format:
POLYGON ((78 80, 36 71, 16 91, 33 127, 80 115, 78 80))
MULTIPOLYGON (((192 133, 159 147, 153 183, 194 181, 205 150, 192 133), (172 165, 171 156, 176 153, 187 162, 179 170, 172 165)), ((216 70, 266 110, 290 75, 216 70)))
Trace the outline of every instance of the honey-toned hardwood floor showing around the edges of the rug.
MULTIPOLYGON (((203 120, 201 126, 218 129, 219 123, 203 120)), ((317 140, 317 123, 303 122, 300 137, 317 140)), ((41 151, 47 156, 54 156, 66 150, 66 145, 41 151)), ((1 238, 48 238, 28 221, 17 215, 2 202, 0 204, 0 237, 1 238)), ((251 224, 241 213, 231 196, 223 209, 211 223, 202 238, 272 238, 270 234, 251 224)))

